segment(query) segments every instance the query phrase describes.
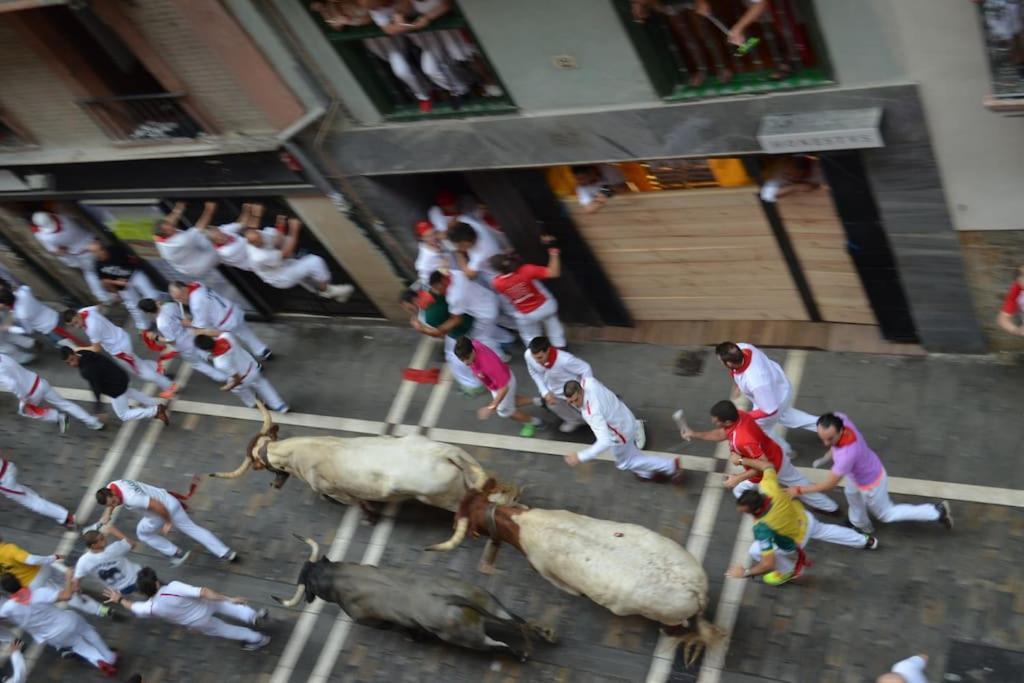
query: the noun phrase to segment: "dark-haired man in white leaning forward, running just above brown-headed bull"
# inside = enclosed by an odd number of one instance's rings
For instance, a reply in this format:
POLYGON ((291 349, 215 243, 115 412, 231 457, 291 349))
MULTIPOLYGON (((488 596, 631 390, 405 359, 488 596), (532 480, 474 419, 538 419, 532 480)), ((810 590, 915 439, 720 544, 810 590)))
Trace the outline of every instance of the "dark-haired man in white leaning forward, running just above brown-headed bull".
POLYGON ((615 467, 633 472, 642 481, 682 483, 683 468, 678 458, 648 456, 640 451, 646 440, 643 425, 608 387, 593 377, 585 377, 580 381, 569 380, 562 391, 597 439, 580 453, 565 456, 569 467, 593 460, 610 449, 615 467))

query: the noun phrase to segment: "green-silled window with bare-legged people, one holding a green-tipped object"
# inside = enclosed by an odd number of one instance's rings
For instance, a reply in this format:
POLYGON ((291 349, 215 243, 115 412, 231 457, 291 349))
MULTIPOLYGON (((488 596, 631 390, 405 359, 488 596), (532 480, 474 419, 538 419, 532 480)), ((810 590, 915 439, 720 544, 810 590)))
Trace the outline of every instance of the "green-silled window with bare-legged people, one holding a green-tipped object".
POLYGON ((830 82, 809 0, 612 0, 658 93, 669 100, 806 88, 830 82), (653 3, 647 3, 653 4, 653 3), (710 9, 705 15, 696 11, 710 9), (760 12, 760 13, 759 13, 760 12), (727 35, 750 22, 742 46, 727 35))

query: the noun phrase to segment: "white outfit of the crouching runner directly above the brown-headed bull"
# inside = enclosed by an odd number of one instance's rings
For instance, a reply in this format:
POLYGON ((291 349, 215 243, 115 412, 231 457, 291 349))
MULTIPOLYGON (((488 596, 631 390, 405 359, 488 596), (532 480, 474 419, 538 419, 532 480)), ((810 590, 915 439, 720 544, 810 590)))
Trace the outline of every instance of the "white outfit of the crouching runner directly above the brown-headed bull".
POLYGON ((583 387, 583 407, 580 413, 597 439, 580 452, 580 462, 593 460, 607 450, 615 459, 615 467, 629 470, 643 479, 657 474, 676 473, 676 461, 649 456, 637 447, 642 430, 640 422, 608 387, 593 377, 580 381, 583 387))

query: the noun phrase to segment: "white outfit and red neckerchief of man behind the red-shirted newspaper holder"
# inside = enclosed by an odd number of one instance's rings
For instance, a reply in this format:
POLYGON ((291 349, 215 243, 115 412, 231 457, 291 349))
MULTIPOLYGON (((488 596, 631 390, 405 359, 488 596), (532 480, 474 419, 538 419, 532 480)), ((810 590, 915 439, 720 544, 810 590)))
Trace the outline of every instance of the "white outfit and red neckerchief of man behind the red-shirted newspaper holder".
POLYGON ((751 417, 788 455, 793 447, 775 433, 775 426, 782 424, 790 429, 799 427, 814 431, 818 419, 793 407, 793 387, 781 366, 753 344, 736 345, 743 352, 743 362, 738 369, 729 371, 732 380, 754 405, 751 417))

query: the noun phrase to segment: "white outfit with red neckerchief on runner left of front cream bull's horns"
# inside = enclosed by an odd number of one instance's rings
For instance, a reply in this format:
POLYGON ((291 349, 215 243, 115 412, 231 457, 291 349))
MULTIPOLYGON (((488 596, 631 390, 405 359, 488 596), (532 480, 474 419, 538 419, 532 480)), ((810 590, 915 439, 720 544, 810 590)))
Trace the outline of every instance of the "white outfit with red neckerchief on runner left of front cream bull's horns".
POLYGON ((135 533, 139 541, 158 553, 173 557, 178 553, 178 547, 160 532, 164 527, 164 518, 150 510, 151 499, 159 501, 167 508, 174 528, 209 550, 215 557, 222 558, 231 552, 230 548, 210 530, 194 522, 182 507, 181 501, 169 490, 132 479, 118 479, 106 484, 106 487, 114 492, 126 510, 137 510, 142 513, 142 518, 135 527, 135 533))

